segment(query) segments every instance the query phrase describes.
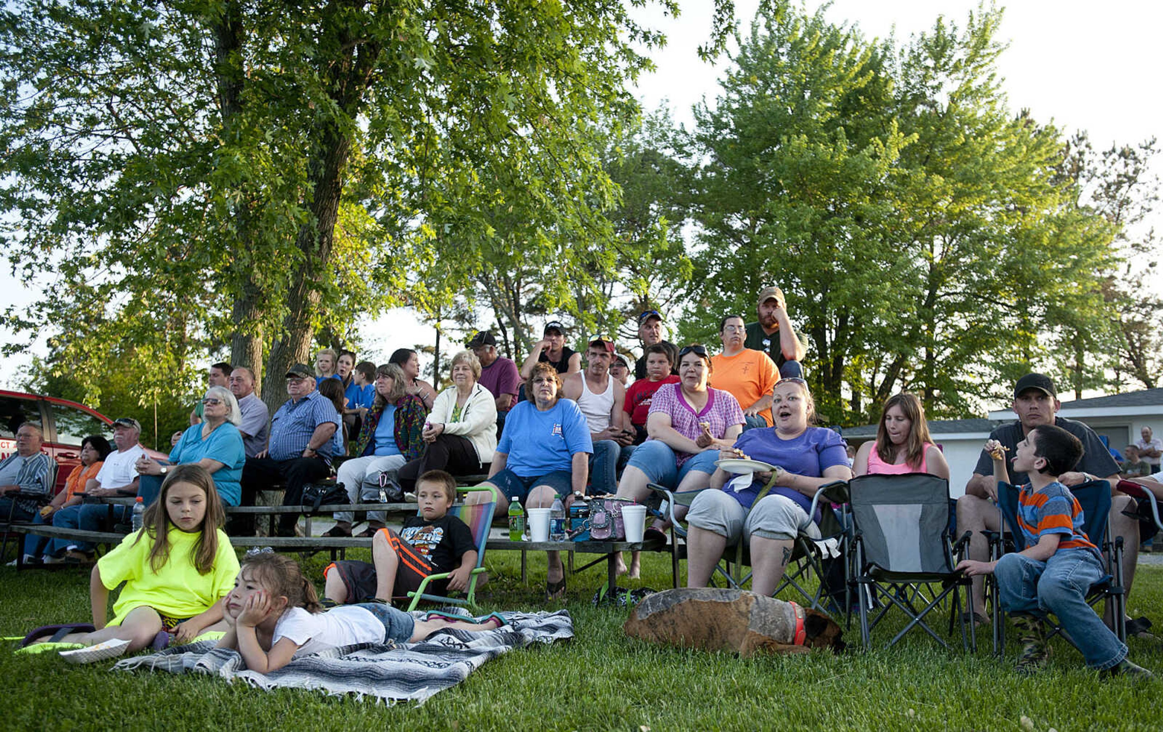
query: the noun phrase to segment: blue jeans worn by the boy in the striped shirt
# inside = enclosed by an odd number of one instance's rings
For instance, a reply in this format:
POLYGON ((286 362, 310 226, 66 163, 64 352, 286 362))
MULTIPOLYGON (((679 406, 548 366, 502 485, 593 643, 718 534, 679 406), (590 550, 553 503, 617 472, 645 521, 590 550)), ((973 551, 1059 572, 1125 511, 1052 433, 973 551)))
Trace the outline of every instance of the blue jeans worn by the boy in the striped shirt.
POLYGON ((1086 591, 1105 574, 1103 563, 1089 549, 1058 549, 1044 562, 1006 554, 993 570, 1003 610, 1041 618, 1054 613, 1086 666, 1098 670, 1127 658, 1127 646, 1086 604, 1086 591))

